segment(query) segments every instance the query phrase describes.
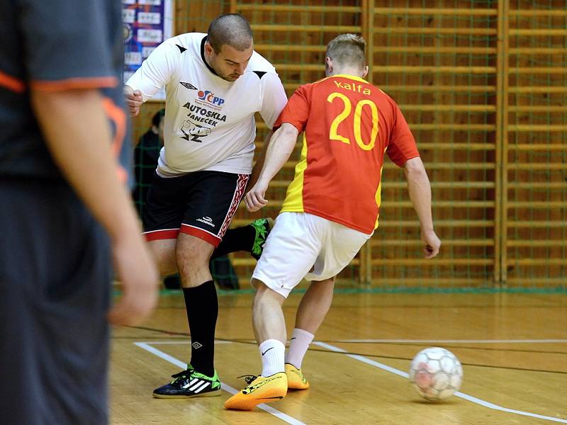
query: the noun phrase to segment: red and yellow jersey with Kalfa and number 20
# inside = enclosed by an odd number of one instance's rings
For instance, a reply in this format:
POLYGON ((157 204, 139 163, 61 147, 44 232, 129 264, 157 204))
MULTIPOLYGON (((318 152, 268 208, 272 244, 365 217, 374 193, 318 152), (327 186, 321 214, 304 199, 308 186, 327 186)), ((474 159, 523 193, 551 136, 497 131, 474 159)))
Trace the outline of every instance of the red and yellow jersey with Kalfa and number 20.
POLYGON ((364 79, 339 74, 299 87, 274 128, 282 123, 303 132, 303 148, 281 211, 373 232, 384 154, 398 166, 420 155, 395 102, 364 79))

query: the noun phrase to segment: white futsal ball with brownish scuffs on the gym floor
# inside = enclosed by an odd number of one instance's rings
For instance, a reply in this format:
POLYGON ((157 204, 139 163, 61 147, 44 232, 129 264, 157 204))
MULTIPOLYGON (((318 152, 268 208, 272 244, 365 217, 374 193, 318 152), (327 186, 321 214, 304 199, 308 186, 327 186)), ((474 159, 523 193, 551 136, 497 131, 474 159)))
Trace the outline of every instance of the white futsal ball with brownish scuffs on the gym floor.
POLYGON ((413 358, 409 378, 417 394, 430 401, 441 401, 461 387, 463 367, 451 351, 425 348, 413 358))

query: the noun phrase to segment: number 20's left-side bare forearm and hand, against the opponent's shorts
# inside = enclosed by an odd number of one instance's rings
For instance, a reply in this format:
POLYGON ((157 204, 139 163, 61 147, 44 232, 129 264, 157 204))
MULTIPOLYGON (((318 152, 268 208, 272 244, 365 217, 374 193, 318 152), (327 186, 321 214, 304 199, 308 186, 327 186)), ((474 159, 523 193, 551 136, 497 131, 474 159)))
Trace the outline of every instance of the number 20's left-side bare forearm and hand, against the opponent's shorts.
POLYGON ((297 128, 293 125, 283 123, 274 132, 274 135, 271 136, 271 141, 266 149, 266 159, 262 165, 258 181, 245 196, 246 208, 250 212, 257 211, 268 203, 264 199, 268 185, 283 164, 286 164, 286 161, 289 159, 293 148, 296 146, 298 133, 297 128))

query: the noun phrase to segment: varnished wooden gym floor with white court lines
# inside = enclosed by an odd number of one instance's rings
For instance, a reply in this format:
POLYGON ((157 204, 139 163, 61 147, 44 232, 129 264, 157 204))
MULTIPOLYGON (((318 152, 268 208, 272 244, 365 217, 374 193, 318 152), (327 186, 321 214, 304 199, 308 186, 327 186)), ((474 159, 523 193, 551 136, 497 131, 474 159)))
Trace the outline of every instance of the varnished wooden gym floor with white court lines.
MULTIPOLYGON (((337 289, 303 362, 311 387, 252 412, 223 409, 257 375, 251 290, 219 291, 215 367, 220 397, 154 399, 189 361, 185 307, 164 291, 144 327, 113 332, 111 424, 567 424, 567 296, 381 294, 337 289), (422 348, 463 363, 460 392, 421 399, 407 377, 422 348)), ((300 293, 284 305, 293 329, 300 293)))

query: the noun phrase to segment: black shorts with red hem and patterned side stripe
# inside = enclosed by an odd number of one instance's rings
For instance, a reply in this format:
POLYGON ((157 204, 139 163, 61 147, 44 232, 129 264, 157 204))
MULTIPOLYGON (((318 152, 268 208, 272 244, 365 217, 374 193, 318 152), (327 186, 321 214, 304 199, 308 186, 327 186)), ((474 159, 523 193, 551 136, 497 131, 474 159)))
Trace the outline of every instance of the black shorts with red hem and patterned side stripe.
POLYGON ((148 241, 191 234, 218 246, 244 196, 247 174, 196 171, 179 177, 154 174, 142 215, 148 241))

